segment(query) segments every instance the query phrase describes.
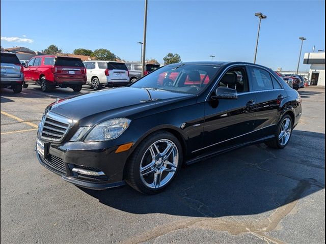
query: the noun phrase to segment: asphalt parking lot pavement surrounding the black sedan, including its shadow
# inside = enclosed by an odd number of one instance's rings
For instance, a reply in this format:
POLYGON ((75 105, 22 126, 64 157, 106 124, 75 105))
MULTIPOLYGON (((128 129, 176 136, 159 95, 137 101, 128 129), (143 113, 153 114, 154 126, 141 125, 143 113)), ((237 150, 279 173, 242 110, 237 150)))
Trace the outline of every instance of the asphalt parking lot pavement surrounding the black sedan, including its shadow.
POLYGON ((324 243, 324 88, 300 89, 285 149, 259 144, 187 166, 152 196, 78 188, 38 163, 45 107, 76 94, 1 90, 2 243, 324 243))

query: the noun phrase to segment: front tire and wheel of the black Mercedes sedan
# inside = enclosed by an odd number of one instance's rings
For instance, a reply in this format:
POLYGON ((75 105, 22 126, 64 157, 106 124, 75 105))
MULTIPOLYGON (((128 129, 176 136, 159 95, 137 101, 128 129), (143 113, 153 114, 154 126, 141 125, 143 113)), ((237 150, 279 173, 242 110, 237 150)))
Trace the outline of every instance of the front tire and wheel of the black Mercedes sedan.
POLYGON ((171 133, 145 138, 129 159, 126 182, 143 194, 156 194, 170 185, 182 164, 182 147, 171 133))

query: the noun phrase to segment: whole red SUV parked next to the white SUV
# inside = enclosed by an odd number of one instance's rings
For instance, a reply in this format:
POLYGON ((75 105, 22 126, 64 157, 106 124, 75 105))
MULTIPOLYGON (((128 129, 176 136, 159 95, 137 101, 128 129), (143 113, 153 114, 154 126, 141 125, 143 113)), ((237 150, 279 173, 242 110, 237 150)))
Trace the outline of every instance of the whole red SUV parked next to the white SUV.
POLYGON ((70 87, 75 92, 86 84, 86 69, 80 58, 55 55, 35 56, 24 69, 25 84, 41 85, 43 92, 70 87))

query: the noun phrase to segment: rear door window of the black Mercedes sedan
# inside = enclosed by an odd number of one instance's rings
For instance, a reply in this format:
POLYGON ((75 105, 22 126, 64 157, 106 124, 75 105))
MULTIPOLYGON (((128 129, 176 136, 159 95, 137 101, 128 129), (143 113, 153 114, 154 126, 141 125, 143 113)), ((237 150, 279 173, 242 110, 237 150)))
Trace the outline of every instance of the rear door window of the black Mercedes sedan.
POLYGON ((258 68, 249 68, 253 90, 273 89, 273 82, 267 71, 258 68))

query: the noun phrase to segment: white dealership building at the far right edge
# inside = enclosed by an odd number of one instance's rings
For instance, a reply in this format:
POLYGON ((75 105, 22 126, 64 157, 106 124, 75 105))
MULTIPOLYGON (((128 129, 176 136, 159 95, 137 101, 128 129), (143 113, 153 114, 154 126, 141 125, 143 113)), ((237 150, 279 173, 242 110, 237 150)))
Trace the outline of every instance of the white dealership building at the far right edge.
POLYGON ((325 52, 307 52, 304 64, 310 65, 310 85, 325 85, 325 52))

